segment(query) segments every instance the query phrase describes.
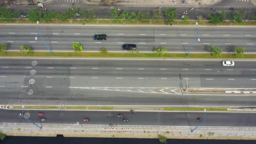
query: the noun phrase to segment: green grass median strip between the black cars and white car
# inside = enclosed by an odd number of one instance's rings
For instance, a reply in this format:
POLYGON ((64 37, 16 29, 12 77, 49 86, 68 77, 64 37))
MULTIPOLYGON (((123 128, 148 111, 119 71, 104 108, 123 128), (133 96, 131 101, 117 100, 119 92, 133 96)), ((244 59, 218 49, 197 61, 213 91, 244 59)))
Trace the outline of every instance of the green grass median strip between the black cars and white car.
POLYGON ((221 56, 211 56, 211 53, 190 53, 187 57, 186 53, 166 53, 164 56, 158 56, 155 53, 104 53, 100 52, 54 52, 53 56, 49 52, 34 52, 32 54, 22 54, 19 52, 7 52, 0 53, 0 56, 24 56, 24 57, 127 57, 127 58, 202 58, 202 59, 256 59, 256 54, 245 54, 242 57, 236 56, 235 54, 222 54, 221 56))

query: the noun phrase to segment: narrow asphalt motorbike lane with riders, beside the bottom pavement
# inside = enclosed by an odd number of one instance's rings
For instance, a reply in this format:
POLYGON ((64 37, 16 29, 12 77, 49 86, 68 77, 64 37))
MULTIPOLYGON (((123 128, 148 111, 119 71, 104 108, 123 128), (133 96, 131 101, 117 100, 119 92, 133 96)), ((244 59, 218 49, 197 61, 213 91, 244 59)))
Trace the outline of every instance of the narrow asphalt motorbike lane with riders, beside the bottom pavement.
MULTIPOLYGON (((29 123, 19 116, 21 110, 0 110, 1 123, 29 123)), ((172 126, 196 126, 200 122, 196 119, 203 118, 204 112, 118 112, 118 111, 44 111, 44 116, 38 116, 37 110, 24 110, 29 113, 29 120, 34 123, 55 124, 85 124, 85 125, 172 125, 172 126), (128 122, 123 122, 123 114, 128 122), (40 118, 46 121, 40 122, 40 118), (89 118, 89 122, 84 122, 89 118)), ((201 126, 229 126, 229 127, 255 127, 255 113, 220 113, 206 112, 206 121, 201 126)))

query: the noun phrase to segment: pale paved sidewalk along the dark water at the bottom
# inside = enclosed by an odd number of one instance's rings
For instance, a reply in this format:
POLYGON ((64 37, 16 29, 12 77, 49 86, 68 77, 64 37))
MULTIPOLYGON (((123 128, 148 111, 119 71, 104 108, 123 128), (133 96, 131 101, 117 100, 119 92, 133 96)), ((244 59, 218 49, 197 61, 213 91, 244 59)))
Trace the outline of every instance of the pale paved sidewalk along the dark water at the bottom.
MULTIPOLYGON (((40 124, 39 124, 40 125, 40 124)), ((158 134, 179 139, 256 139, 256 127, 195 126, 133 126, 133 125, 73 125, 43 124, 43 129, 27 123, 0 123, 0 131, 11 136, 122 137, 156 138, 158 134), (201 136, 200 136, 201 135, 201 136)))

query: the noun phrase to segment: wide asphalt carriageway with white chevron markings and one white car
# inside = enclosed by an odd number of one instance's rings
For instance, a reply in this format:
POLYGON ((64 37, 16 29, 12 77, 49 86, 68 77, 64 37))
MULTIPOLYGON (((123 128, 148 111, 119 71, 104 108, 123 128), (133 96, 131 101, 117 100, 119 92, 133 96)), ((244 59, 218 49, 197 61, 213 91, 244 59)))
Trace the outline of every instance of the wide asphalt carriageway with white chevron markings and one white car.
POLYGON ((187 81, 189 88, 255 88, 254 63, 1 59, 0 104, 253 106, 251 96, 184 97, 179 90, 187 81))

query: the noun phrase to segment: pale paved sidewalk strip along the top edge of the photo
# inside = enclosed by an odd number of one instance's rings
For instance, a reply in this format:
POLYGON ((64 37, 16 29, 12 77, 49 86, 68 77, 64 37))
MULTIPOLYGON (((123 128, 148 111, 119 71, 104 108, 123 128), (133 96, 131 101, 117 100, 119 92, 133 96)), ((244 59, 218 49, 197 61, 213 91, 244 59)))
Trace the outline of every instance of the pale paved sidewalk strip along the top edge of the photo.
POLYGON ((220 3, 222 0, 82 0, 91 5, 118 5, 118 6, 209 6, 220 3))

